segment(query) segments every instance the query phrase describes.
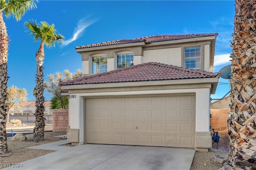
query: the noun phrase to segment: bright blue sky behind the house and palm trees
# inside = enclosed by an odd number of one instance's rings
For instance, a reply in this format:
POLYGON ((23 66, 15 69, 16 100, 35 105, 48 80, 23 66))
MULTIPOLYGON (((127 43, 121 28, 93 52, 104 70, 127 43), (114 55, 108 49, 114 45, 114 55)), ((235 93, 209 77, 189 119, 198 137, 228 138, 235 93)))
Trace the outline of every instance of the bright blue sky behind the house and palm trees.
MULTIPOLYGON (((5 18, 8 36, 8 87, 11 85, 28 92, 27 100, 36 86, 35 53, 39 42, 26 33, 24 22, 36 20, 55 24, 65 37, 62 44, 48 49, 45 46, 44 79, 47 75, 68 69, 82 69, 81 55, 75 47, 113 40, 133 39, 164 34, 218 33, 214 72, 231 64, 229 61, 234 28, 234 1, 85 1, 41 0, 37 8, 28 11, 22 20, 5 18)), ((230 89, 228 80, 220 78, 215 95, 223 97, 230 89)), ((51 96, 45 92, 45 99, 51 96)))

